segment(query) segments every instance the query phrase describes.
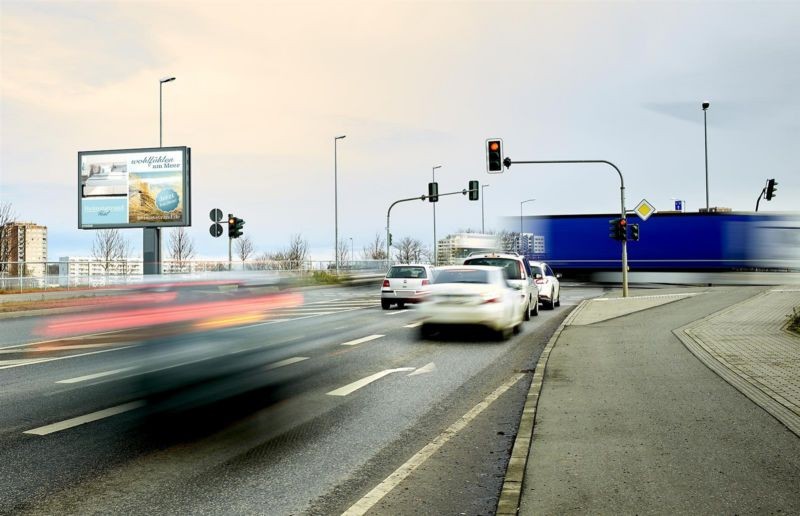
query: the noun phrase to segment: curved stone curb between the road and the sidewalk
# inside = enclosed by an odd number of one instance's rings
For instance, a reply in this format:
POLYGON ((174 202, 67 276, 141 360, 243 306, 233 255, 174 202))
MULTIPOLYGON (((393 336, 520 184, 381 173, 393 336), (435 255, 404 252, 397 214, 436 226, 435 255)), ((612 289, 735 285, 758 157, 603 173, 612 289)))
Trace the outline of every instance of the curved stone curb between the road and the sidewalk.
POLYGON ((500 491, 500 499, 497 501, 496 515, 509 516, 519 514, 519 505, 522 499, 522 483, 525 479, 525 468, 528 465, 528 455, 533 441, 533 428, 536 422, 536 408, 539 405, 539 394, 542 392, 544 383, 544 373, 547 368, 547 360, 550 352, 555 347, 561 332, 569 326, 578 313, 590 300, 584 299, 580 304, 564 319, 553 332, 547 345, 544 347, 536 368, 533 372, 528 396, 525 400, 525 407, 522 409, 522 416, 519 422, 517 437, 514 439, 514 447, 511 449, 511 459, 506 467, 503 488, 500 491))

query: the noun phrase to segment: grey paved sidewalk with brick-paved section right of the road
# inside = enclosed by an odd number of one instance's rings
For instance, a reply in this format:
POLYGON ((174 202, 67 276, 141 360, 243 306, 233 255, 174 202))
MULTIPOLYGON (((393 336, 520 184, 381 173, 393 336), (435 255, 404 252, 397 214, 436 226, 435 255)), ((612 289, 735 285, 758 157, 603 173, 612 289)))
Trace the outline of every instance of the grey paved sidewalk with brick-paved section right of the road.
POLYGON ((498 514, 800 513, 800 289, 658 292, 584 302, 554 335, 498 514))

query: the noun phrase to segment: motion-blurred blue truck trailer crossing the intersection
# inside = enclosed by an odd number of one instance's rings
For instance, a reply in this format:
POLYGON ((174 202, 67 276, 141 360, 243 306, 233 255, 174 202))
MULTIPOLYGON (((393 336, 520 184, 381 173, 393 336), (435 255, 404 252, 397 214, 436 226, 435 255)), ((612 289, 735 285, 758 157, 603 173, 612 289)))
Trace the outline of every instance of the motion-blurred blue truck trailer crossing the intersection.
MULTIPOLYGON (((522 227, 520 251, 565 272, 619 270, 621 242, 609 236, 619 214, 508 217, 522 227)), ((631 271, 798 271, 800 214, 755 212, 629 214, 631 271), (630 226, 639 225, 639 241, 630 226)))

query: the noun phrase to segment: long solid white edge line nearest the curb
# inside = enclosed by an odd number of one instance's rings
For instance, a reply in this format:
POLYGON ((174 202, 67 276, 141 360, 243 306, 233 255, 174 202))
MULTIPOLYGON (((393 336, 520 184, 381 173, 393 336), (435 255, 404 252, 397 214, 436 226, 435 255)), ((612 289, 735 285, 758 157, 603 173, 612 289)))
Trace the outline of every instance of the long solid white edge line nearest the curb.
POLYGON ((428 443, 424 448, 418 451, 413 457, 408 459, 405 464, 397 468, 394 473, 386 477, 386 479, 375 486, 375 488, 364 495, 364 497, 350 506, 342 516, 360 516, 370 510, 376 503, 378 503, 384 496, 386 496, 392 489, 397 487, 405 478, 411 474, 412 471, 422 465, 428 458, 433 455, 436 450, 441 448, 459 431, 464 429, 478 414, 486 410, 497 398, 503 395, 508 389, 514 386, 524 374, 517 374, 512 376, 503 385, 498 387, 493 393, 484 398, 483 401, 475 405, 472 410, 464 414, 461 419, 450 425, 444 432, 436 436, 436 438, 428 443))

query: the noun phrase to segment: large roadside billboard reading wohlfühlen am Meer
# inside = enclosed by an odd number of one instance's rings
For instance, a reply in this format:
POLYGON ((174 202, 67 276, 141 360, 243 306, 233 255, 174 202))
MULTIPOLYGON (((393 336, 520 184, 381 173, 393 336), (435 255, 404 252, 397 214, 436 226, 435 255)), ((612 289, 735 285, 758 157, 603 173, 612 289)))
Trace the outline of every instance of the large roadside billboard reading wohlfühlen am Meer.
POLYGON ((78 153, 78 228, 191 225, 191 149, 78 153))

